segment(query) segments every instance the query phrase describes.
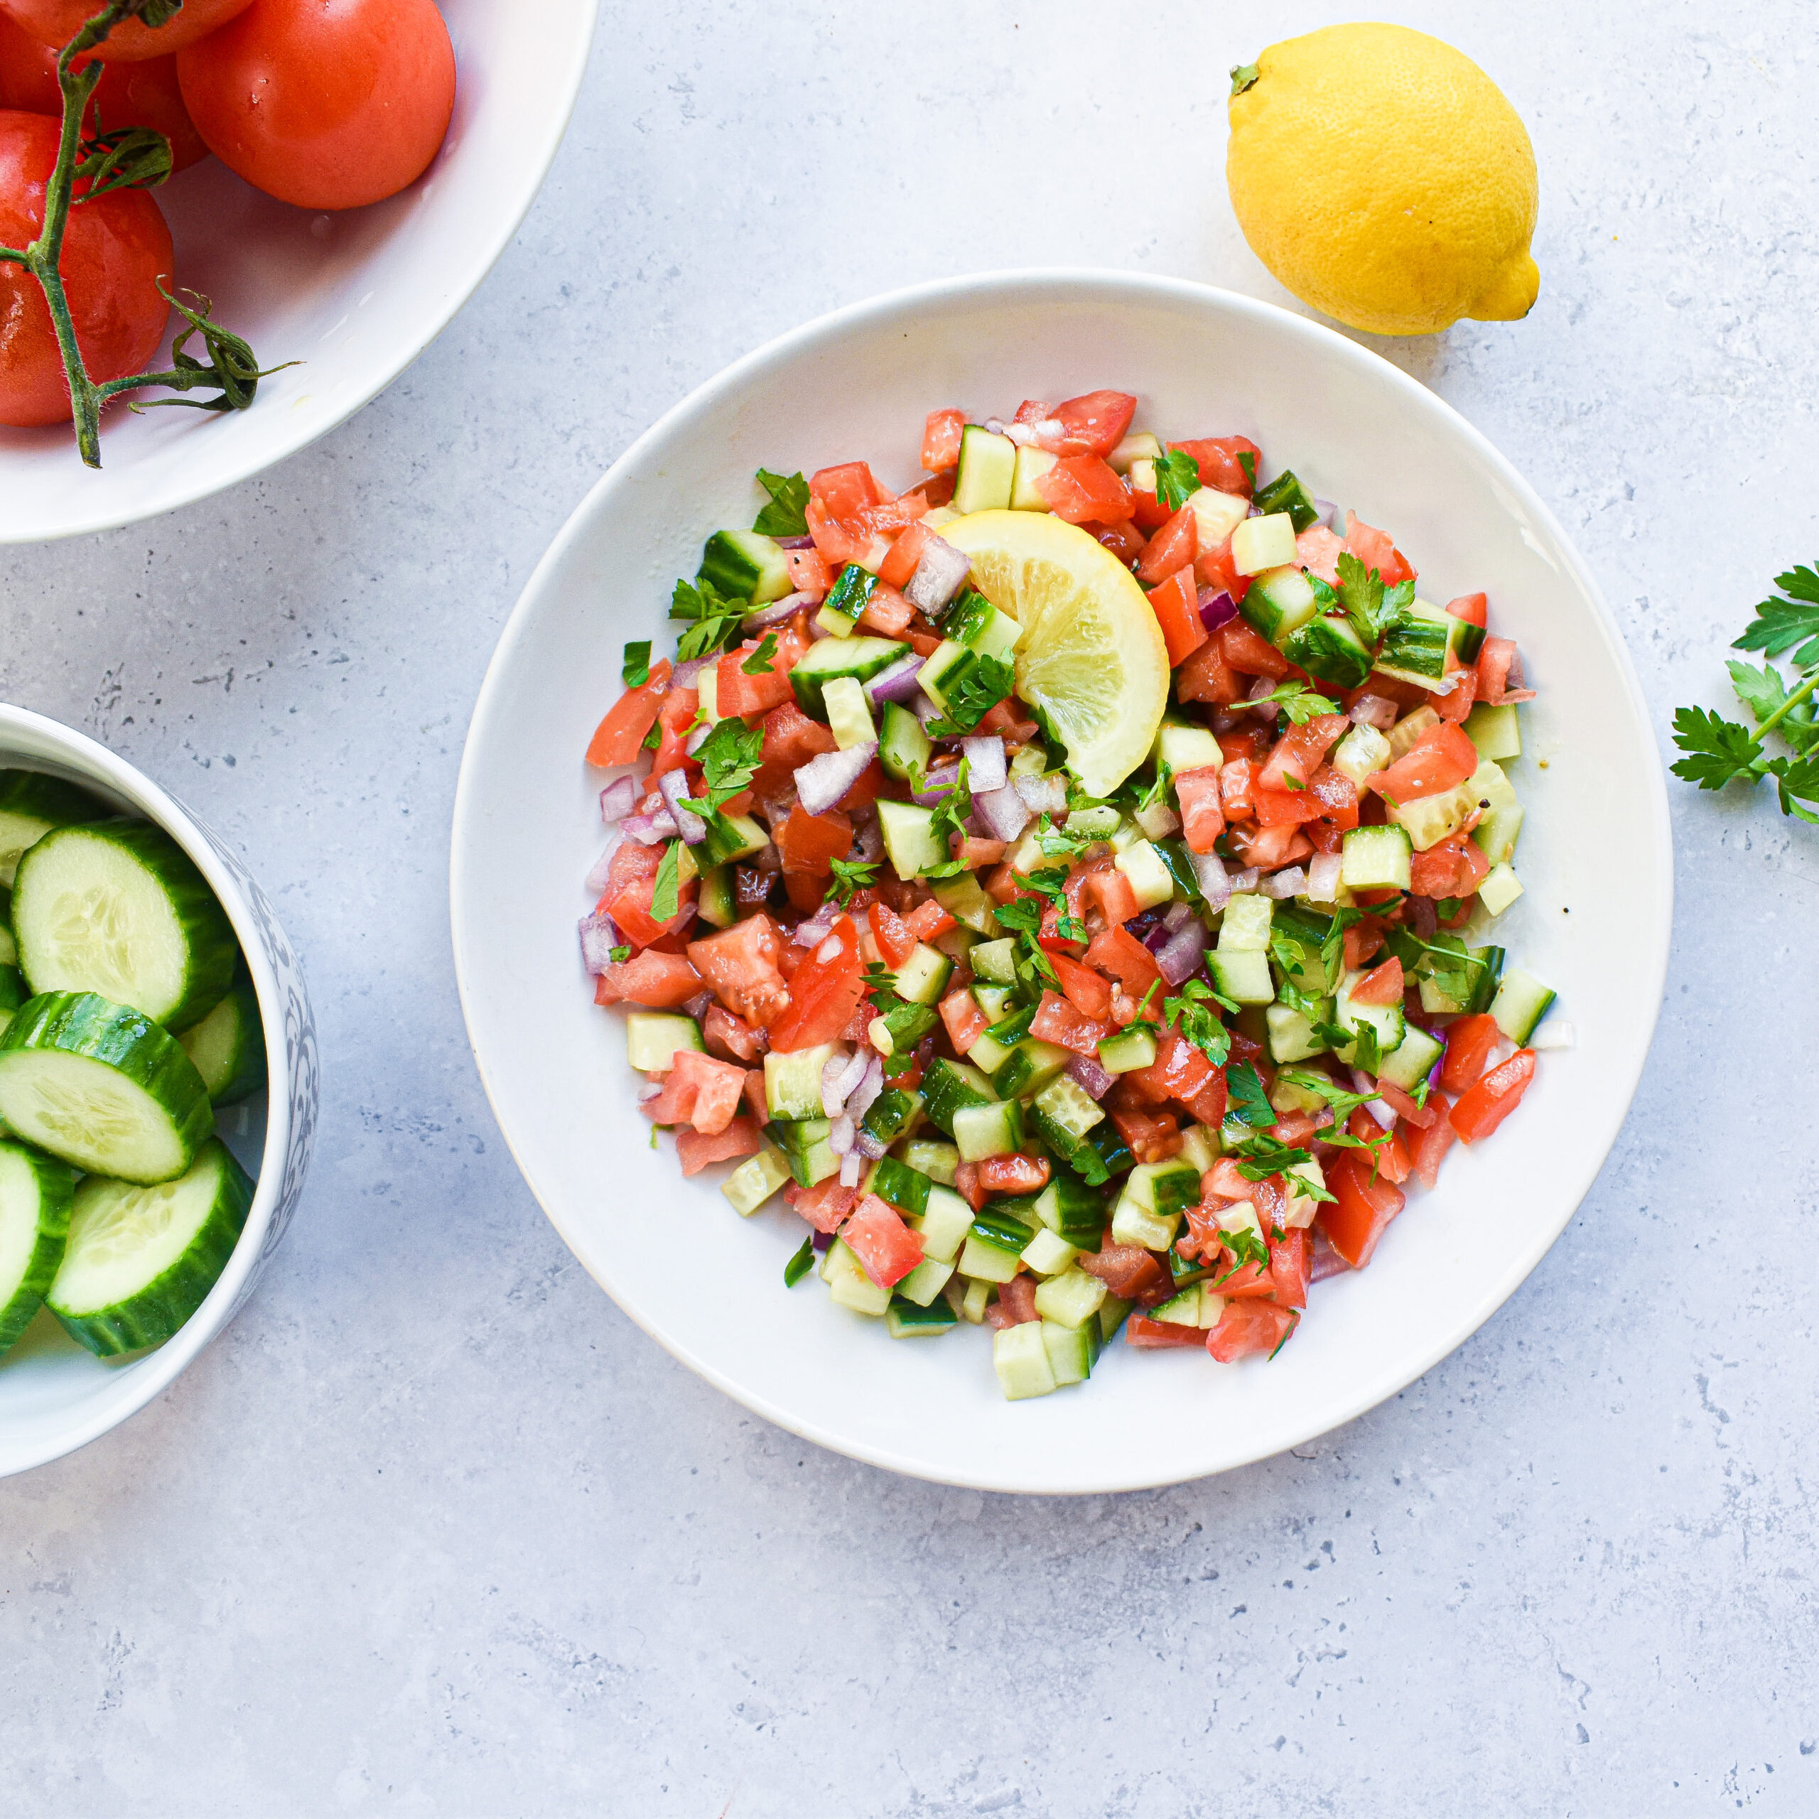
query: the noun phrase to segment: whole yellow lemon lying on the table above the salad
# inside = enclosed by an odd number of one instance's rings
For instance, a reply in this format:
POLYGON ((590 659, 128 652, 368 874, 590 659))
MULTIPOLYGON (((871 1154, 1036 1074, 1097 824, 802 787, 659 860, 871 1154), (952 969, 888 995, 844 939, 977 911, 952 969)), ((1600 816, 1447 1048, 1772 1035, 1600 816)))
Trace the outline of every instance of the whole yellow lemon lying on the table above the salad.
POLYGON ((1535 151, 1490 76, 1406 25, 1326 25, 1231 73, 1226 184, 1251 251, 1373 335, 1513 322, 1541 289, 1535 151))

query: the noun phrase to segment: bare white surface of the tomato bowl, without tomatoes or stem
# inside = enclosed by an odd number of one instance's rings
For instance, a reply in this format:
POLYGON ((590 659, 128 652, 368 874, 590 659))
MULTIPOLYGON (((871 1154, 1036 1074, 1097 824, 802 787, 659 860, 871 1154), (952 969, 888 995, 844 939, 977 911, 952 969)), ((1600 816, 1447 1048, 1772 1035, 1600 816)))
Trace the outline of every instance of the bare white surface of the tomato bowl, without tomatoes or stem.
POLYGON ((437 162, 369 209, 311 215, 218 160, 158 200, 178 284, 266 366, 253 409, 113 409, 102 471, 64 429, 0 427, 0 542, 131 524, 206 498, 313 442, 384 389, 473 295, 549 169, 588 60, 597 0, 440 0, 458 89, 437 162))

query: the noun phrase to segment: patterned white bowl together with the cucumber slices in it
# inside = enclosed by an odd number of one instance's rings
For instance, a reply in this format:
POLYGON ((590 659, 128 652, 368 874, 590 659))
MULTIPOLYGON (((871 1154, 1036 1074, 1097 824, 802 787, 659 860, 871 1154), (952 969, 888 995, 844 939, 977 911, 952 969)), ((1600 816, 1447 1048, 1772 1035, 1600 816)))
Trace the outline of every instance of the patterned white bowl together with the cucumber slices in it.
POLYGON ((0 706, 0 1475, 118 1426, 233 1319, 315 1119, 302 971, 240 860, 0 706))

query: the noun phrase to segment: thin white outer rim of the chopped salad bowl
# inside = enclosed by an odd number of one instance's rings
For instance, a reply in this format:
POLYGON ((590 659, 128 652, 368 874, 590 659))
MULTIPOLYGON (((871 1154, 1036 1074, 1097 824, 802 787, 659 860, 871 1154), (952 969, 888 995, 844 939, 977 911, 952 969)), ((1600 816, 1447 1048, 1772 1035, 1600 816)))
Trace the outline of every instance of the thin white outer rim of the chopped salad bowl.
MULTIPOLYGON (((800 1415, 777 1406, 771 1399, 753 1393, 735 1375, 729 1375, 728 1372, 711 1366, 709 1362, 695 1355, 688 1346, 680 1344, 662 1328, 653 1324, 640 1308, 628 1304, 628 1301, 617 1291, 609 1270, 600 1268, 597 1266, 597 1262, 588 1261, 588 1248, 582 1242, 580 1235, 569 1228, 568 1221, 562 1215, 562 1210, 558 1208, 558 1204, 555 1204, 555 1195, 544 1191, 544 1188, 538 1182, 538 1173, 533 1161, 528 1155, 520 1153, 513 1130, 500 1117, 500 1093, 495 1088, 495 1080, 491 1077, 486 1055, 480 1053, 480 1048, 473 1037, 475 1010, 469 999, 469 980, 460 964, 464 950, 466 899, 467 899, 467 891, 464 886, 466 886, 467 868, 469 864, 473 864, 473 855, 469 853, 469 844, 467 844, 469 817, 466 813, 466 802, 469 791, 475 788, 475 777, 473 777, 477 764, 475 753, 482 742, 480 739, 482 729, 486 728, 486 722, 489 720, 495 709, 495 700, 504 688, 502 677, 509 668, 509 660, 518 642, 529 631, 544 580, 557 568, 560 568, 571 546, 584 535, 584 529, 593 515, 597 500, 602 495, 609 493, 613 487, 617 487, 626 475, 638 469, 640 464, 644 464, 644 460, 648 458, 651 449, 660 447, 680 426, 686 426, 691 418, 711 411, 728 398, 737 397, 740 391, 751 386, 751 382, 757 377, 768 375, 780 366, 788 366, 791 360, 797 360, 804 353, 809 353, 817 346, 829 342, 837 337, 842 337, 848 331, 866 327, 873 322, 900 318, 906 311, 913 311, 917 307, 944 304, 960 298, 990 300, 995 295, 1017 293, 1019 300, 1026 300, 1035 293, 1048 291, 1051 293, 1051 302, 1062 306, 1066 302, 1079 298, 1082 289, 1099 293, 1100 296, 1117 291, 1122 293, 1122 296, 1131 302, 1141 302, 1141 300, 1164 300, 1164 302, 1175 300, 1186 304, 1217 302, 1221 307, 1239 317, 1268 320, 1277 329, 1284 331, 1291 338, 1306 342, 1310 347, 1319 347, 1328 353, 1337 353, 1342 360, 1370 369, 1370 373, 1375 377, 1377 382, 1393 387, 1406 398, 1413 400, 1421 411, 1426 411, 1432 417, 1435 417, 1442 424, 1448 435, 1470 444, 1477 451, 1477 455, 1495 471, 1502 486, 1508 487, 1510 495, 1513 495, 1513 498, 1521 504, 1523 511, 1528 513, 1528 517, 1535 520, 1548 535, 1552 535, 1557 549, 1564 555, 1566 564, 1570 566, 1572 580, 1584 591, 1586 598, 1592 600, 1597 611, 1595 631, 1597 637, 1606 646, 1610 660, 1617 675, 1621 677, 1621 684, 1626 693, 1626 706, 1644 728, 1650 724, 1646 702, 1635 675, 1635 668, 1630 662, 1630 655, 1624 649, 1624 644, 1615 631, 1615 624, 1612 620, 1610 608, 1604 602, 1603 591, 1597 588, 1595 580, 1586 571, 1584 564, 1579 560, 1577 551, 1563 533, 1559 522, 1555 520, 1548 506, 1541 500, 1541 497, 1533 491, 1533 487, 1523 478, 1521 473, 1517 473, 1517 469, 1497 451, 1497 447, 1486 437, 1482 437, 1444 398, 1432 393, 1419 380, 1412 378, 1410 375, 1401 371, 1401 367, 1384 360, 1381 355, 1370 351, 1368 347, 1362 347, 1357 342, 1346 338, 1335 329, 1330 329, 1319 322, 1310 322, 1308 318, 1297 317, 1273 304, 1259 302, 1250 296, 1239 296, 1231 291, 1222 291, 1215 286, 1195 284, 1184 278, 1150 276, 1150 275, 1137 275, 1124 271, 1104 271, 1093 267, 1039 267, 1028 271, 1011 269, 1011 271, 977 273, 959 278, 942 278, 930 284, 919 284, 899 291, 889 291, 880 296, 866 298, 857 304, 849 304, 824 317, 817 317, 815 320, 804 324, 802 327, 791 329, 789 333, 780 335, 771 342, 766 342, 762 347, 755 349, 744 358, 735 360, 724 371, 709 378, 706 384, 698 386, 677 406, 666 411, 649 429, 644 431, 644 435, 640 435, 618 457, 618 460, 613 462, 613 466, 600 477, 600 480, 595 482, 588 497, 580 502, 580 506, 577 506, 568 524, 562 528, 551 548, 546 551, 542 562, 538 562, 537 569, 533 571, 529 582, 524 588, 524 593, 518 598, 518 604, 513 608, 513 613, 506 622, 504 633, 500 635, 498 640, 498 648, 495 649, 493 660, 487 666, 486 678, 480 686, 480 693, 475 702, 467 731, 467 742, 462 753, 460 779, 457 782, 453 839, 451 839, 451 857, 449 857, 449 886, 451 886, 449 910, 451 910, 451 928, 455 935, 457 984, 462 997, 462 1011, 467 1020, 469 1046, 473 1048, 475 1066, 478 1068, 482 1086, 487 1093, 487 1100, 493 1106, 495 1119, 500 1124, 500 1131, 506 1139, 508 1148, 513 1153, 513 1159, 518 1164, 518 1170, 522 1171, 526 1182, 531 1188, 531 1193, 544 1208, 551 1224, 555 1224, 557 1231, 562 1235, 564 1242, 569 1246, 571 1251, 575 1251, 578 1259, 582 1259, 589 1273, 593 1273, 593 1277, 600 1282, 600 1286, 609 1295, 613 1295, 618 1306, 626 1313, 629 1313, 638 1326, 642 1326, 653 1339, 657 1339, 658 1344, 662 1344, 682 1364, 689 1366, 689 1370, 706 1377, 709 1382, 713 1382, 719 1390, 724 1390, 737 1402, 753 1410, 753 1413, 762 1415, 766 1421, 775 1422, 786 1432, 815 1441, 820 1446, 828 1446, 833 1452, 840 1452, 857 1459, 866 1459, 871 1464, 879 1464, 893 1472, 902 1472, 911 1477, 926 1477, 937 1482, 955 1482, 970 1486, 977 1484, 979 1488, 986 1490, 1022 1492, 1028 1490, 1030 1486, 993 1482, 988 1477, 977 1477, 977 1475, 950 1477, 948 1473, 931 1470, 920 1459, 911 1459, 897 1453, 888 1444, 869 1444, 855 1441, 849 1435, 840 1435, 817 1424, 813 1419, 802 1419, 800 1415)), ((1672 904, 1673 904, 1673 868, 1672 868, 1672 826, 1668 815, 1666 780, 1661 771, 1659 751, 1653 748, 1652 740, 1648 746, 1648 753, 1652 760, 1650 789, 1646 804, 1639 804, 1639 808, 1641 813, 1650 822, 1650 829, 1655 837, 1653 848, 1659 862, 1655 868, 1655 877, 1639 879, 1635 889, 1639 900, 1663 906, 1663 915, 1657 924, 1659 939, 1653 942, 1653 951, 1648 953, 1646 959, 1643 960, 1643 964, 1646 966, 1648 997, 1650 1002, 1653 1004, 1653 1011, 1650 1013, 1648 1019, 1648 1035, 1652 1037, 1655 1028, 1655 1019, 1659 1015, 1663 984, 1666 980, 1668 935, 1672 931, 1672 904)), ((1646 1060, 1646 1042, 1641 1044, 1641 1048, 1637 1050, 1635 1066, 1630 1071, 1630 1079, 1626 1080, 1623 1090, 1624 1115, 1628 1113, 1628 1106, 1633 1102, 1635 1088, 1641 1080, 1644 1060, 1646 1060)), ((1597 1161, 1590 1168, 1584 1168, 1581 1171, 1581 1179, 1577 1181, 1573 1191, 1561 1197, 1559 1217, 1553 1219, 1552 1222, 1537 1226, 1532 1244, 1524 1251, 1521 1251, 1495 1281, 1486 1282, 1479 1297, 1470 1306, 1459 1310, 1459 1317, 1453 1322, 1450 1339, 1430 1344, 1426 1350, 1417 1352, 1412 1361, 1399 1361, 1397 1368, 1393 1370, 1382 1372, 1375 1377, 1372 1375, 1361 1377, 1361 1381, 1350 1386, 1348 1393, 1342 1399, 1324 1408, 1319 1413, 1319 1419, 1310 1421, 1306 1426, 1288 1433, 1286 1437, 1275 1439, 1268 1446, 1261 1446, 1257 1450, 1242 1453, 1241 1457, 1228 1459, 1217 1470, 1231 1470, 1235 1466, 1253 1462, 1255 1459, 1273 1457, 1279 1452, 1286 1452, 1290 1446, 1299 1446, 1310 1439, 1315 1439, 1321 1433, 1328 1433, 1333 1428, 1339 1428, 1344 1422, 1353 1421, 1357 1415, 1362 1415, 1366 1410, 1375 1408, 1379 1402, 1395 1395, 1399 1390, 1404 1390, 1410 1382, 1419 1379, 1433 1364, 1437 1364, 1441 1359, 1457 1350, 1457 1346, 1462 1344, 1466 1337, 1477 1332, 1477 1328, 1481 1328, 1484 1321, 1488 1321, 1490 1315, 1502 1306, 1502 1302, 1532 1273, 1532 1270, 1543 1259, 1543 1255, 1546 1255, 1553 1241, 1566 1228, 1573 1211, 1577 1211, 1579 1202, 1584 1199, 1584 1193, 1595 1181, 1599 1170, 1603 1168, 1604 1155, 1608 1155, 1608 1150, 1601 1151, 1597 1161)), ((1186 1479, 1201 1477, 1204 1473, 1206 1473, 1204 1466, 1190 1464, 1186 1470, 1179 1472, 1162 1472, 1162 1473, 1144 1472, 1141 1475, 1122 1475, 1113 1472, 1108 1475, 1104 1473, 1095 1475, 1093 1466, 1088 1462, 1082 1464, 1082 1472, 1077 1481, 1068 1482, 1066 1486, 1044 1488, 1040 1493, 1090 1495, 1102 1492, 1148 1490, 1148 1488, 1157 1488, 1161 1484, 1182 1482, 1186 1479)))

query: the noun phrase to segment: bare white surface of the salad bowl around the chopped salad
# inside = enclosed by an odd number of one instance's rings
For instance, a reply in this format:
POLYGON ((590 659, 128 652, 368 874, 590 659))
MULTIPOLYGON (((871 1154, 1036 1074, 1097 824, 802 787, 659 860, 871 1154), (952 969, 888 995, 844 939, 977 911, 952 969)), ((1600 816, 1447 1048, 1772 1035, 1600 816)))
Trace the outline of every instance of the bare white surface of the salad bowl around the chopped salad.
POLYGON ((1290 1446, 1395 1392, 1523 1281, 1610 1148, 1653 1030, 1670 922, 1666 800, 1639 691, 1546 509, 1424 387, 1270 306, 1170 280, 1010 275, 828 318, 751 357, 646 435, 528 588, 487 675, 455 815, 453 919, 469 1031, 542 1206, 620 1306, 748 1406, 828 1446, 1002 1490, 1161 1484, 1290 1446), (633 1104, 617 1013, 575 940, 604 846, 580 753, 620 691, 620 642, 668 649, 669 584, 704 535, 749 524, 751 473, 868 458, 917 477, 924 413, 975 417, 1117 386, 1170 438, 1244 433, 1264 471, 1393 533, 1448 600, 1484 589, 1541 698, 1513 766, 1528 895, 1513 964, 1561 993, 1579 1046, 1550 1053, 1519 1117, 1455 1151, 1370 1270, 1321 1284, 1270 1364, 1113 1348, 1090 1384, 1008 1404, 986 1335, 899 1344, 786 1290, 802 1224, 740 1221, 717 1168, 678 1177, 633 1104))

